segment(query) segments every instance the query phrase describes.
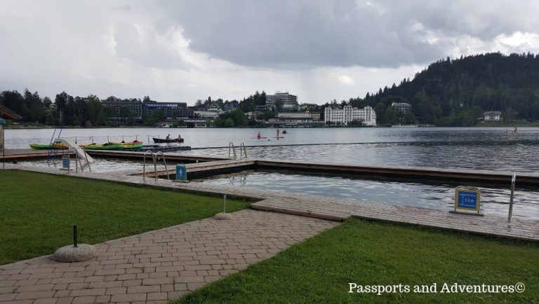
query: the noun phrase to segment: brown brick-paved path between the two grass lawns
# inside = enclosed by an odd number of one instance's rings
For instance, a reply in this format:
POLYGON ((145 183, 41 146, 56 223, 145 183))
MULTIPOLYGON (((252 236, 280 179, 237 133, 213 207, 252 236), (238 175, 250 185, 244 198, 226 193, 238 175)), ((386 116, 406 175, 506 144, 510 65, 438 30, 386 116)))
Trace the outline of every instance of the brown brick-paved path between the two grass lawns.
POLYGON ((98 256, 0 266, 0 303, 166 303, 338 225, 246 209, 95 245, 98 256))

